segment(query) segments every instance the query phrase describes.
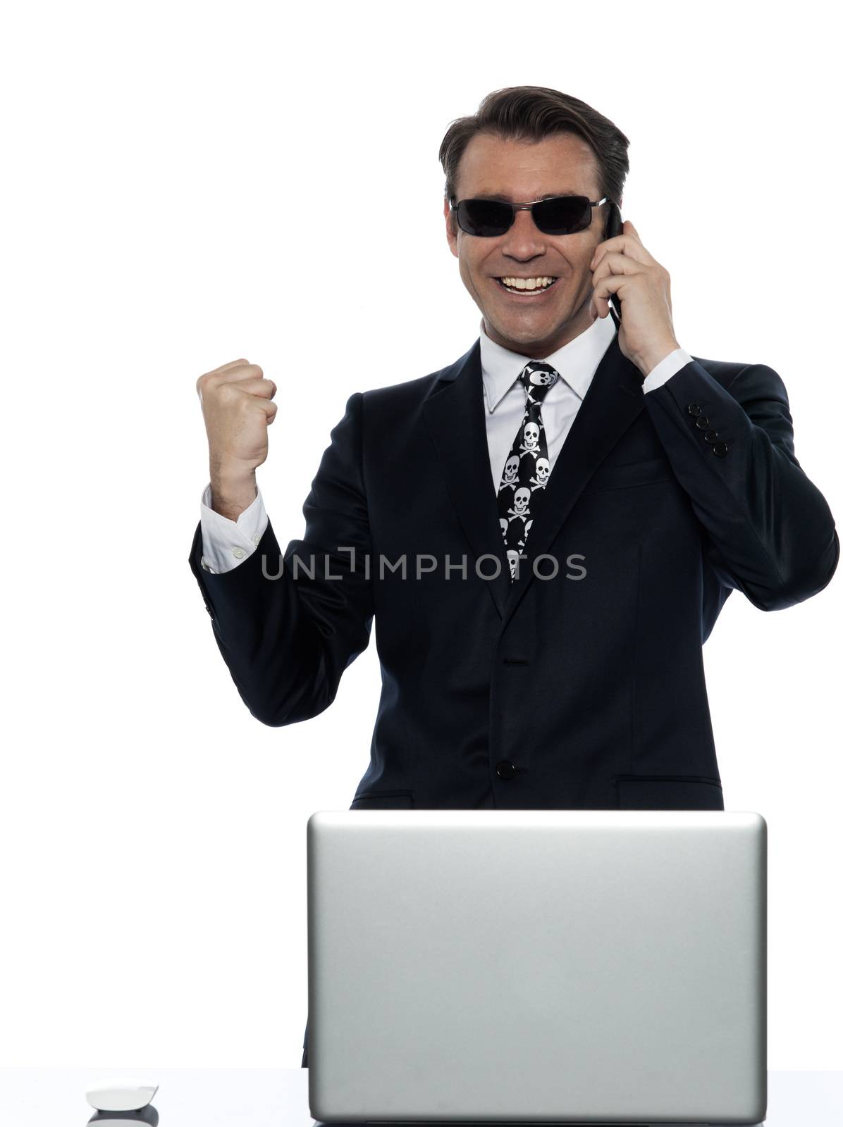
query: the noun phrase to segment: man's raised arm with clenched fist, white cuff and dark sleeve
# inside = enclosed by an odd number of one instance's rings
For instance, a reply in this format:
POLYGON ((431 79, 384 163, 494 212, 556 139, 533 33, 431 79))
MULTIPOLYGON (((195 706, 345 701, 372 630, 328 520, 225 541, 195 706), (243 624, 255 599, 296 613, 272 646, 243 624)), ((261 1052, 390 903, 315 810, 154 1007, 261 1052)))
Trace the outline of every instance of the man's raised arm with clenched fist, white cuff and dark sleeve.
POLYGON ((275 384, 240 360, 199 376, 196 387, 211 464, 203 500, 214 516, 203 509, 190 569, 252 716, 277 727, 307 720, 336 696, 344 669, 369 645, 374 614, 365 571, 363 397, 348 399, 331 431, 304 502, 304 539, 282 556, 255 472, 268 452, 275 384))

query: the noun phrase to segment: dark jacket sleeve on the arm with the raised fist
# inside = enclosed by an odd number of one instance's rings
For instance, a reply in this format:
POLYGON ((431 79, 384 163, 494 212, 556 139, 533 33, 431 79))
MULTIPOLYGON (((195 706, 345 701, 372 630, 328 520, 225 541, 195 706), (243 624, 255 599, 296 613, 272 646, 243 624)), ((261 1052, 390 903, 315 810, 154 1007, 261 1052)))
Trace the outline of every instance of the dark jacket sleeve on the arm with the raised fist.
POLYGON ((328 708, 344 669, 369 645, 374 609, 364 562, 362 411, 355 392, 304 502, 304 539, 290 541, 283 557, 268 521, 257 550, 214 575, 202 567, 201 523, 194 534, 190 569, 216 645, 251 715, 273 727, 328 708))

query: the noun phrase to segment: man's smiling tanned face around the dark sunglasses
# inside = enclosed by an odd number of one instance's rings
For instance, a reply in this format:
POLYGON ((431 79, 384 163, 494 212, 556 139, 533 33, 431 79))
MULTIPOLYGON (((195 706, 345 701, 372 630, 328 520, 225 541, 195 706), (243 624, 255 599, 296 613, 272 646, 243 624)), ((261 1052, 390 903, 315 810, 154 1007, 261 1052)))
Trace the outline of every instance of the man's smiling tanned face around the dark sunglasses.
MULTIPOLYGON (((547 195, 600 199, 597 176, 594 152, 575 134, 522 142, 479 133, 462 154, 456 199, 495 196, 518 203, 547 195)), ((531 212, 518 211, 505 234, 483 238, 456 227, 456 218, 451 216, 445 201, 447 241, 491 340, 541 360, 592 325, 589 263, 595 247, 603 241, 605 210, 605 204, 592 210, 592 223, 586 230, 561 236, 543 234, 531 212), (502 277, 558 281, 541 295, 520 296, 507 292, 498 281, 502 277)))

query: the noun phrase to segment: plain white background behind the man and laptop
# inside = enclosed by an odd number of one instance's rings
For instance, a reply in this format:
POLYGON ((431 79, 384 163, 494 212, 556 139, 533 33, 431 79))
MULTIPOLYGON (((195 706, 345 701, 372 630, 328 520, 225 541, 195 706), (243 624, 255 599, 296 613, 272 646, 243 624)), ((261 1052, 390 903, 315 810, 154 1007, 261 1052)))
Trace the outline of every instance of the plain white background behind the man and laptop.
MULTIPOLYGON (((489 90, 551 86, 627 133, 623 215, 681 345, 779 372, 843 512, 825 10, 7 8, 2 1065, 300 1063, 304 829, 350 802, 379 665, 373 640, 307 724, 240 701, 187 565, 195 381, 245 356, 278 384, 283 548, 348 396, 477 338, 437 151, 489 90)), ((704 647, 726 808, 769 826, 771 1068, 843 1067, 841 591, 734 593, 704 647)))

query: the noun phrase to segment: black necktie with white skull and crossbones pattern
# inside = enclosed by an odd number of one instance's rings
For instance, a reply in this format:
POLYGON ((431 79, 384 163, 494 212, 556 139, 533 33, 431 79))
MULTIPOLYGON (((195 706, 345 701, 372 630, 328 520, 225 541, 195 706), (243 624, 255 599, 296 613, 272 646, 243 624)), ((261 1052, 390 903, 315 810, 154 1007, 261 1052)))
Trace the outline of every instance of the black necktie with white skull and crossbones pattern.
POLYGON ((518 381, 526 391, 524 418, 498 486, 498 517, 509 561, 511 582, 515 580, 516 564, 523 564, 518 557, 524 551, 538 503, 550 478, 541 405, 558 379, 560 376, 557 370, 539 360, 531 360, 518 375, 518 381))

